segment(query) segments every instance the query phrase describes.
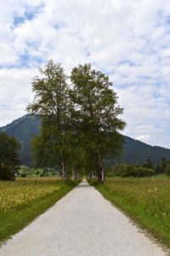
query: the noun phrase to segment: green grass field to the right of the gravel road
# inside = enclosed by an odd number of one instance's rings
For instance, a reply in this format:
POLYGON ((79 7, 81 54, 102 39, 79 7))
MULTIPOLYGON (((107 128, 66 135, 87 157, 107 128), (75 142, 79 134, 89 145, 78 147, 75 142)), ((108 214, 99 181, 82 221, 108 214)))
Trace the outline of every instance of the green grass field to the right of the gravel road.
POLYGON ((105 198, 170 246, 170 178, 108 178, 92 183, 105 198))

